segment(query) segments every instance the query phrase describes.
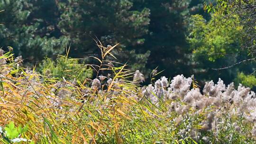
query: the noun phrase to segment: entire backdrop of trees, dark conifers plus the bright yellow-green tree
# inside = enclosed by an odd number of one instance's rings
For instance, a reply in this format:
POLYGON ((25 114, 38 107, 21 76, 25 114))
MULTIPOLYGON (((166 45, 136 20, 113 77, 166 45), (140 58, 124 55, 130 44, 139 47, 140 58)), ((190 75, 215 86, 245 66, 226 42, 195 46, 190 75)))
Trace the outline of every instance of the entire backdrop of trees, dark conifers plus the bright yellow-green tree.
POLYGON ((230 69, 212 69, 254 57, 252 48, 242 50, 249 40, 250 46, 255 43, 255 23, 244 20, 251 14, 232 13, 254 2, 239 5, 237 0, 208 0, 205 7, 204 2, 0 0, 0 10, 4 10, 0 13, 0 45, 4 50, 14 47, 24 62, 35 64, 45 56, 55 60, 56 54, 64 54, 69 44, 70 57, 86 58, 100 54, 94 40, 102 45, 120 43, 112 53, 121 63, 128 62, 131 69, 143 72, 148 81, 156 67, 165 70, 165 76, 194 74, 201 83, 219 77, 230 82, 238 72, 253 73, 254 61, 230 69), (249 30, 251 35, 245 35, 250 27, 254 27, 249 30))

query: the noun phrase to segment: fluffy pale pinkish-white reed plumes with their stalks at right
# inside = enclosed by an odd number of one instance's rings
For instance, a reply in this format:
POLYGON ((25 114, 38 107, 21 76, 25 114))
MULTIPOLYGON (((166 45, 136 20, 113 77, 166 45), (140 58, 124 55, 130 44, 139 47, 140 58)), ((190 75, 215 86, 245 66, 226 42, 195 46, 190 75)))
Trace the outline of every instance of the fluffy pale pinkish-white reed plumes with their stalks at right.
POLYGON ((239 143, 254 143, 255 92, 241 84, 236 90, 233 82, 226 87, 221 79, 217 84, 206 82, 201 92, 192 88, 192 77, 177 75, 170 84, 162 77, 154 85, 144 87, 142 94, 156 107, 165 107, 166 111, 158 111, 158 115, 176 117, 172 130, 176 129, 181 137, 189 135, 205 143, 238 143, 235 135, 240 135, 245 139, 239 143), (189 119, 193 121, 188 122, 189 119), (183 126, 178 128, 179 125, 183 126))

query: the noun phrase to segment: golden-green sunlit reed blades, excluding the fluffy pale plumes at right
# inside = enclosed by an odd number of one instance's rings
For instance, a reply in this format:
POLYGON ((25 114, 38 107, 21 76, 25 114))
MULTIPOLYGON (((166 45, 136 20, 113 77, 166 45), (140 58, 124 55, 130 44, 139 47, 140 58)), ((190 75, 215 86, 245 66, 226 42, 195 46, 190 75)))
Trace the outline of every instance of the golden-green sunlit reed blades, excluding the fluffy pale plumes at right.
MULTIPOLYGON (((0 126, 11 121, 16 126, 27 125, 27 132, 19 135, 29 140, 24 142, 27 144, 207 144, 203 136, 213 144, 255 142, 250 133, 253 125, 239 115, 228 117, 228 110, 219 112, 210 106, 179 112, 173 103, 186 106, 182 99, 159 99, 155 94, 158 102, 152 102, 142 94, 147 88, 141 89, 132 80, 134 72, 127 64, 105 60, 107 55, 115 58, 110 52, 117 45, 97 45, 101 57, 89 58, 99 63, 84 66, 91 66, 100 80, 51 78, 23 68, 22 61, 15 60, 11 52, 2 54, 0 60, 7 63, 1 63, 0 71, 0 126), (100 77, 103 71, 109 74, 100 77), (213 111, 225 121, 217 137, 214 130, 203 131, 202 126, 213 111), (242 135, 231 125, 234 122, 242 135), (192 133, 199 132, 199 139, 192 138, 192 133)), ((152 82, 156 74, 151 73, 152 82)), ((192 88, 198 88, 194 80, 192 88)), ((2 133, 2 142, 9 144, 4 136, 2 133)))

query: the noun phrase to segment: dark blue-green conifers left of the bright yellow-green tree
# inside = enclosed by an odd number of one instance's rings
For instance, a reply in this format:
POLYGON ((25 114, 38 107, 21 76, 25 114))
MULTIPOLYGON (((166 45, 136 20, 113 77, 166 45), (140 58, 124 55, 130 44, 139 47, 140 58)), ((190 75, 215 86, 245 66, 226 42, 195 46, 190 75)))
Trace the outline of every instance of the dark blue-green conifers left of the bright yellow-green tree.
MULTIPOLYGON (((121 43, 114 54, 145 74, 159 66, 166 75, 187 72, 185 18, 202 9, 190 0, 1 0, 3 47, 11 45, 25 61, 64 52, 75 58, 99 54, 93 39, 121 43), (157 7, 156 7, 157 6, 157 7), (196 6, 196 7, 194 7, 196 6), (9 17, 12 16, 12 17, 9 17), (174 69, 175 67, 175 69, 174 69), (170 70, 170 71, 169 71, 170 70), (171 73, 170 73, 171 72, 171 73)), ((199 5, 198 5, 199 4, 199 5)))

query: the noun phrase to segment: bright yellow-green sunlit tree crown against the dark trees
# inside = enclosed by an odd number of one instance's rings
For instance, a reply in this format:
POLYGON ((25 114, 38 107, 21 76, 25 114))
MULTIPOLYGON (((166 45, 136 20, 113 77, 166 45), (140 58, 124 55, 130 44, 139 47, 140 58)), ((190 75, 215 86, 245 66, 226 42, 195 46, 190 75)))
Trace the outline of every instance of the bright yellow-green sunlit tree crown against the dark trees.
MULTIPOLYGON (((222 20, 224 21, 224 20, 222 20)), ((234 21, 238 23, 237 18, 234 21)), ((209 22, 201 15, 194 15, 190 18, 188 41, 196 60, 199 57, 205 61, 215 62, 227 54, 239 54, 241 44, 241 27, 232 22, 224 23, 215 27, 221 22, 219 15, 212 15, 209 22)))

